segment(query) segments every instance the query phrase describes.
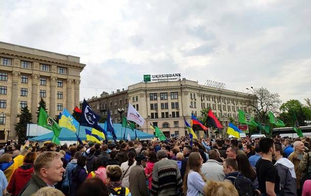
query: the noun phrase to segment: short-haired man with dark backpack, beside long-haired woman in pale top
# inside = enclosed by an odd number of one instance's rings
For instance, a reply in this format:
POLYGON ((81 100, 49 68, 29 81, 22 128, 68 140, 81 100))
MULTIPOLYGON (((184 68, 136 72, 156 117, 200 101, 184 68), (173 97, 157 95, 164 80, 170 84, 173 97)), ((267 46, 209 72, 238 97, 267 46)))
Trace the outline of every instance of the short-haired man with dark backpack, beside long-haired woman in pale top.
POLYGON ((223 172, 226 175, 224 180, 229 180, 236 187, 239 196, 256 194, 252 182, 238 172, 238 162, 234 158, 228 157, 223 161, 223 172))

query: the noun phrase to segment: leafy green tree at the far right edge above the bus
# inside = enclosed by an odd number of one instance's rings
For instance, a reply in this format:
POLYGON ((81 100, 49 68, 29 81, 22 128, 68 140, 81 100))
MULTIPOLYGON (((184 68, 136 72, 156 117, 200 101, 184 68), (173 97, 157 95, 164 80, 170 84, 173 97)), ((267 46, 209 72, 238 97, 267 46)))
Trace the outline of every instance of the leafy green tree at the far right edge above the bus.
POLYGON ((293 112, 296 114, 300 126, 304 126, 305 120, 311 120, 311 109, 296 99, 291 99, 283 103, 280 106, 280 111, 279 119, 282 120, 287 127, 293 126, 293 112))

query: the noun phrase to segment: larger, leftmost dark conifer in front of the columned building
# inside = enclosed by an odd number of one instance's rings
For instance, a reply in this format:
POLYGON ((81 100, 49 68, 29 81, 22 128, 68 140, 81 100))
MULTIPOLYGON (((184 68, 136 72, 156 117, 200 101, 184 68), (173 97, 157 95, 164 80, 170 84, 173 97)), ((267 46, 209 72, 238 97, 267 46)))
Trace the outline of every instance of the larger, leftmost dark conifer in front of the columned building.
POLYGON ((17 115, 19 122, 15 125, 18 136, 18 144, 22 144, 26 139, 27 124, 32 123, 33 115, 30 113, 28 106, 21 109, 21 114, 17 115))

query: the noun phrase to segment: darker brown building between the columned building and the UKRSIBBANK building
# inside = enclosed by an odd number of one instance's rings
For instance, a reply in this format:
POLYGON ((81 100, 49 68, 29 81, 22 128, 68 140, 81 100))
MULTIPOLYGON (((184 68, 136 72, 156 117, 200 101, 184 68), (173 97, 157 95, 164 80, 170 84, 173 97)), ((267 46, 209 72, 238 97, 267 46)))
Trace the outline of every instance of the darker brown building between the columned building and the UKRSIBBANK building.
MULTIPOLYGON (((106 116, 109 109, 111 119, 114 123, 119 123, 122 115, 127 115, 128 96, 127 90, 124 89, 122 91, 117 90, 117 92, 112 92, 110 95, 107 92, 102 92, 100 97, 92 97, 87 102, 92 110, 100 116, 106 116)), ((82 109, 82 104, 80 107, 82 109)))

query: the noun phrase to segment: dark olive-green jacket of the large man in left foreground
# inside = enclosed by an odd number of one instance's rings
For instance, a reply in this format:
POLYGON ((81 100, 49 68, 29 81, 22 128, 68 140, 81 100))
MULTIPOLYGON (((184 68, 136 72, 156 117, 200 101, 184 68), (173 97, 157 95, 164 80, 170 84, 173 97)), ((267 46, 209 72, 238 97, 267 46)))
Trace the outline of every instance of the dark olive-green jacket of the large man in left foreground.
POLYGON ((35 174, 32 174, 30 181, 20 191, 18 196, 30 196, 37 192, 40 188, 47 186, 47 184, 35 174))

